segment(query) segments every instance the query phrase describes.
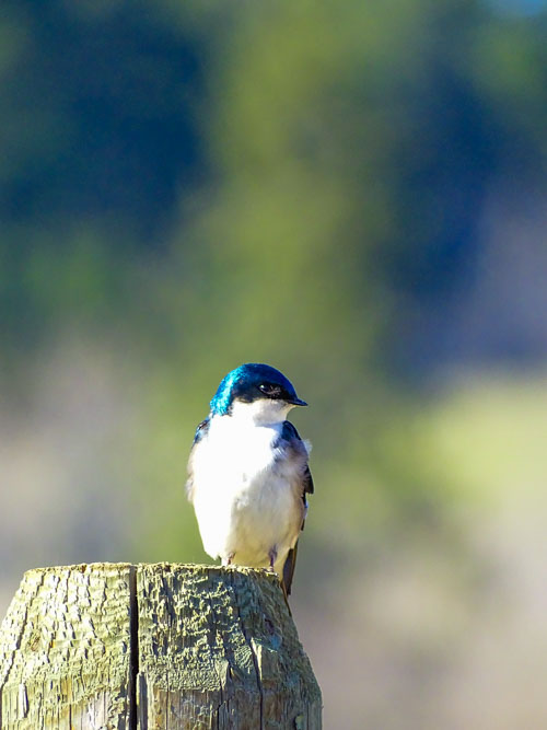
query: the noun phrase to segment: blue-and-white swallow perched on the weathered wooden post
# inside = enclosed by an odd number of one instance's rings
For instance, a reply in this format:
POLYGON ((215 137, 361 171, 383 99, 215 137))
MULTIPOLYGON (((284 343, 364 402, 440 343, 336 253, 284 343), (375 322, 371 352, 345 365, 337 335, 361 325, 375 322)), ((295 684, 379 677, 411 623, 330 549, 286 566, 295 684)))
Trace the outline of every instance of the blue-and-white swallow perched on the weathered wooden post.
POLYGON ((276 572, 286 599, 314 490, 311 444, 287 416, 306 405, 279 370, 246 362, 221 380, 188 459, 205 552, 223 566, 276 572))

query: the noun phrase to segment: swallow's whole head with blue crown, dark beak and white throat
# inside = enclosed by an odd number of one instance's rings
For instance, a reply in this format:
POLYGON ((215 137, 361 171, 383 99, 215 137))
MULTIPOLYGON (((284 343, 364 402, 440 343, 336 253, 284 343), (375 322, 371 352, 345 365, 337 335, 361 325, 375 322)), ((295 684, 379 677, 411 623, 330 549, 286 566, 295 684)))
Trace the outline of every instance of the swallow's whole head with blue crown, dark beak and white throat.
POLYGON ((294 406, 306 406, 292 383, 271 366, 247 362, 222 379, 211 401, 213 416, 246 416, 257 422, 286 420, 294 406))

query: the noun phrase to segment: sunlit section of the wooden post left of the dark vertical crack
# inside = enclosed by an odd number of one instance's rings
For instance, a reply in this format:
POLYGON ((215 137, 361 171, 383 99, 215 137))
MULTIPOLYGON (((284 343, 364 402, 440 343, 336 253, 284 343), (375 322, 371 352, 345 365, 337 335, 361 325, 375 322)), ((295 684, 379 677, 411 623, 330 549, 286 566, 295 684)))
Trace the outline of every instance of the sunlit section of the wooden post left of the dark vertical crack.
POLYGON ((131 566, 25 573, 0 629, 0 727, 128 725, 131 566))

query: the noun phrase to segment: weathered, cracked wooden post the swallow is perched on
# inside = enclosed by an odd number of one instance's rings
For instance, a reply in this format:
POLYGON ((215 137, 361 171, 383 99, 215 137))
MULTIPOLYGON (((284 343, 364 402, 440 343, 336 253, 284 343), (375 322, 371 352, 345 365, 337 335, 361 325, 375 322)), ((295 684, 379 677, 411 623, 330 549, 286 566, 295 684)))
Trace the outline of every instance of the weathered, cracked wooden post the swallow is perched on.
POLYGON ((317 730, 321 707, 261 570, 30 570, 0 628, 1 730, 317 730))

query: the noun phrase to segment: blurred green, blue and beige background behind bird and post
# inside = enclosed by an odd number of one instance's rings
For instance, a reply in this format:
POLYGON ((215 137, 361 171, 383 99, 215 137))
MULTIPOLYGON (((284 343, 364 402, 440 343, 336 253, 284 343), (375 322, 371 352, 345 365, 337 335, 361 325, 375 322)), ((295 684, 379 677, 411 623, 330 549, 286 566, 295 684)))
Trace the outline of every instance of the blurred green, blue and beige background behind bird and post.
POLYGON ((207 561, 225 372, 316 483, 325 727, 547 726, 547 9, 3 0, 0 610, 23 570, 207 561))

